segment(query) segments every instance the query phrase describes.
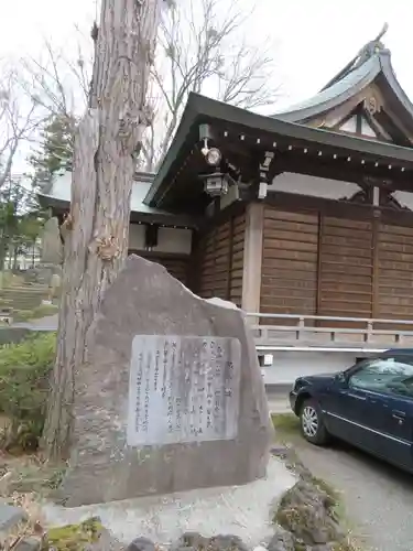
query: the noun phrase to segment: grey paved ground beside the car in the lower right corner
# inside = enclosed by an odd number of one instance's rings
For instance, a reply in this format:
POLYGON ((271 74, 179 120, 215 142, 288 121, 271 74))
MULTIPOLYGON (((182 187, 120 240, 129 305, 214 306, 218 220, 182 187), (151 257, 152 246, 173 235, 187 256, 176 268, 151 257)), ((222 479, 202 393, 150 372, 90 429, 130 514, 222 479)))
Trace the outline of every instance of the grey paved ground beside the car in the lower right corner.
POLYGON ((346 444, 294 442, 304 465, 343 493, 350 527, 374 551, 413 550, 413 476, 346 444))

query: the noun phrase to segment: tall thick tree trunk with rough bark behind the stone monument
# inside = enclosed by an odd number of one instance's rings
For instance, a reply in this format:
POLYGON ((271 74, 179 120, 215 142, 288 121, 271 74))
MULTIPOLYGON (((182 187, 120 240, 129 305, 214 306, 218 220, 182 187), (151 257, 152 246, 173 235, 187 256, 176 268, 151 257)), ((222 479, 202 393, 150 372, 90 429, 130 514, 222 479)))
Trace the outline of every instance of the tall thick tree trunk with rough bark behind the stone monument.
POLYGON ((164 0, 102 0, 90 109, 75 139, 70 215, 56 363, 43 444, 50 460, 67 457, 76 372, 88 331, 128 251, 130 196, 146 86, 164 0))

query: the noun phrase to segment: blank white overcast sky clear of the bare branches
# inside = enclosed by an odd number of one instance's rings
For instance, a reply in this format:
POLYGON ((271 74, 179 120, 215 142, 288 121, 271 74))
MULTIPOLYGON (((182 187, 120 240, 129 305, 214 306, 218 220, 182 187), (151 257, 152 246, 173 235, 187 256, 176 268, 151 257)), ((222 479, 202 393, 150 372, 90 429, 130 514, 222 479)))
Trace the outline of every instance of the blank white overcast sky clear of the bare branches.
MULTIPOLYGON (((177 0, 180 1, 180 0, 177 0)), ((413 3, 410 0, 240 0, 256 12, 249 39, 271 36, 282 104, 317 91, 387 21, 384 37, 401 85, 413 98, 413 3)), ((0 0, 0 57, 35 53, 42 35, 65 44, 73 25, 85 29, 95 0, 0 0)), ((225 2, 222 2, 225 3, 225 2)))

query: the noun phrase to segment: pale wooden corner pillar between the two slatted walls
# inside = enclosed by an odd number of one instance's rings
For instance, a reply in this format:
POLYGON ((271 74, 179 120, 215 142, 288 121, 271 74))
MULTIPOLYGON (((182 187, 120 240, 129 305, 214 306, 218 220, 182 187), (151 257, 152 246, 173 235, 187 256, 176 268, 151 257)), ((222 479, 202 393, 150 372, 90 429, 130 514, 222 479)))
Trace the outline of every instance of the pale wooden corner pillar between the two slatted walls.
POLYGON ((242 310, 251 313, 260 312, 263 220, 264 205, 250 203, 246 210, 242 310))

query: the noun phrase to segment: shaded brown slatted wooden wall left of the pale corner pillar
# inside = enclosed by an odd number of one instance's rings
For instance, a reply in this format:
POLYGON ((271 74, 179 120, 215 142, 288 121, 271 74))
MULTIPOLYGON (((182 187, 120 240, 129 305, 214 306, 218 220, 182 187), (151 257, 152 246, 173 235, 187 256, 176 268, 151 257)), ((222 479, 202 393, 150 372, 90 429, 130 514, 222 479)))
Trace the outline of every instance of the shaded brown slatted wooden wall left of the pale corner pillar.
POLYGON ((210 228, 200 236, 196 250, 195 292, 204 299, 218 296, 241 305, 244 214, 210 228))

